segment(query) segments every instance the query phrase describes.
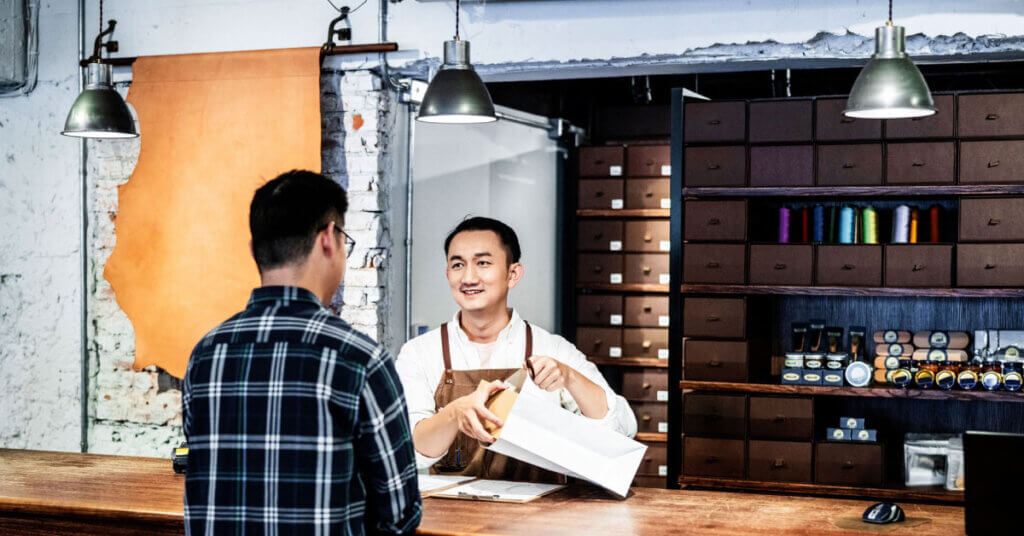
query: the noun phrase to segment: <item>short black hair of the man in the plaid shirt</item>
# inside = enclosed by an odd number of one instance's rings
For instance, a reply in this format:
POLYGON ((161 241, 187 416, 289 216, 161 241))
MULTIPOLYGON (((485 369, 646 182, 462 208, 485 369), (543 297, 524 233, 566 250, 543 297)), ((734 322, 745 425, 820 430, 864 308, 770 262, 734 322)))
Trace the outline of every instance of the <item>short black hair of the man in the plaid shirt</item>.
POLYGON ((334 220, 344 225, 348 197, 330 178, 302 169, 278 175, 253 195, 249 232, 260 272, 309 256, 316 234, 334 220))

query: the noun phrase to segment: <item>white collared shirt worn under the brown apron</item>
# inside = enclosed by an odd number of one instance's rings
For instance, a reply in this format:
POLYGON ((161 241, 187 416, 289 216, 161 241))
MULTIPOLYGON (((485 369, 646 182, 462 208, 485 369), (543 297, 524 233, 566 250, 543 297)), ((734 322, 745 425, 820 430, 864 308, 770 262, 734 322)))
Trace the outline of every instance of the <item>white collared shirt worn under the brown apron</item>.
MULTIPOLYGON (((546 356, 568 365, 587 379, 604 389, 608 403, 608 413, 604 418, 596 419, 601 424, 630 438, 636 436, 637 419, 630 409, 626 399, 615 395, 597 366, 587 360, 582 352, 564 338, 553 335, 547 330, 530 324, 534 332, 534 355, 546 356)), ((476 370, 480 366, 480 358, 476 347, 470 342, 469 336, 463 331, 456 313, 449 323, 449 345, 452 353, 453 370, 476 370)), ((512 319, 508 326, 498 334, 494 353, 487 363, 488 369, 517 369, 522 367, 526 353, 526 324, 519 314, 512 311, 512 319)), ((398 377, 406 390, 406 403, 409 405, 409 420, 412 428, 423 419, 432 417, 434 408, 434 391, 444 373, 444 358, 441 354, 440 328, 434 329, 416 337, 401 346, 397 360, 398 377)), ((552 405, 561 406, 577 414, 582 414, 580 408, 568 389, 542 391, 552 405)), ((446 453, 445 453, 446 454, 446 453)), ((444 454, 436 458, 428 458, 416 453, 419 468, 429 467, 444 454)))

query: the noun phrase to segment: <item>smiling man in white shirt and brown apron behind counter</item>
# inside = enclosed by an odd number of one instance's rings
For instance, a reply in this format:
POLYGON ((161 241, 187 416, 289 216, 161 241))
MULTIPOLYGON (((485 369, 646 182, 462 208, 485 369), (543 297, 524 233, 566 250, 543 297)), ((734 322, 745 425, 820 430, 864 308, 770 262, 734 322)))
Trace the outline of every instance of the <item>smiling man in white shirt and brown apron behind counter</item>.
POLYGON ((637 423, 597 367, 564 338, 508 307, 523 277, 519 240, 496 219, 463 220, 444 241, 449 286, 459 304, 451 322, 407 342, 397 369, 406 390, 417 466, 485 479, 558 482, 561 476, 485 450, 484 403, 505 378, 529 370, 552 411, 568 410, 629 437, 637 423), (481 385, 480 381, 486 382, 481 385))

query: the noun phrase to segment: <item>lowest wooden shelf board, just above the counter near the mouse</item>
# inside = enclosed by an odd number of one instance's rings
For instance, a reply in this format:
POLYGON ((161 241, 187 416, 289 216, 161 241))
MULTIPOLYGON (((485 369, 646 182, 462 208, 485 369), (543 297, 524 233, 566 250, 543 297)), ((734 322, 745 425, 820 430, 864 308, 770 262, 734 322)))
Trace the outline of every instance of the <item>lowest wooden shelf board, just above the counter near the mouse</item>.
POLYGON ((737 479, 715 479, 709 477, 679 477, 681 486, 743 491, 774 491, 779 493, 802 493, 835 497, 864 497, 897 501, 926 501, 963 504, 964 493, 945 488, 862 488, 858 486, 835 486, 829 484, 761 482, 737 479))

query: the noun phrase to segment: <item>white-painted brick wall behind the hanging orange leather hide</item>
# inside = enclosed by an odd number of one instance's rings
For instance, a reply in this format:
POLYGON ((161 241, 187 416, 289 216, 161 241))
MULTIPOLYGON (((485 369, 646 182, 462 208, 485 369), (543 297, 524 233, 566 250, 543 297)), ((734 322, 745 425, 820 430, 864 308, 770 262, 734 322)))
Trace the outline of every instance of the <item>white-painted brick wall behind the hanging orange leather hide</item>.
MULTIPOLYGON (((321 85, 323 171, 348 191, 345 231, 356 241, 345 285, 331 306, 355 329, 386 343, 388 183, 396 171, 390 132, 396 104, 367 71, 325 72, 321 85)), ((147 134, 154 135, 141 132, 147 134)), ((131 322, 102 277, 116 242, 117 187, 130 178, 138 151, 138 140, 89 142, 89 450, 168 456, 183 439, 180 384, 155 367, 131 369, 131 322)))

